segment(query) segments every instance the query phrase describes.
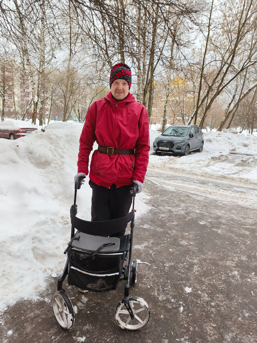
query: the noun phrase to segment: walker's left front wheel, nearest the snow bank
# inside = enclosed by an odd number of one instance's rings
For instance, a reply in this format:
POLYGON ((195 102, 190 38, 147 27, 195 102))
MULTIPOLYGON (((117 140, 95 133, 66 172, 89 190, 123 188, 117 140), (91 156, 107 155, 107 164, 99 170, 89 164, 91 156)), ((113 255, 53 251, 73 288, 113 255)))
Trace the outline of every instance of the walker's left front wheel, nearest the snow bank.
POLYGON ((56 291, 52 299, 53 313, 58 324, 63 329, 69 329, 74 323, 74 311, 70 298, 64 293, 56 291))

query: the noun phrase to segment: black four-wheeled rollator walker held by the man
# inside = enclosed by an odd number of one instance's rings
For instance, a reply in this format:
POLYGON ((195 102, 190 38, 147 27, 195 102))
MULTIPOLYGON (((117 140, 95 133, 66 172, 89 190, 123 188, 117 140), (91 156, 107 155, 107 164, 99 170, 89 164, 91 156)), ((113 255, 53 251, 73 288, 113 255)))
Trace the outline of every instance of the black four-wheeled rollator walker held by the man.
POLYGON ((130 282, 136 283, 137 260, 132 262, 133 229, 135 220, 135 196, 137 186, 133 186, 133 208, 122 218, 89 222, 76 217, 77 189, 81 188, 83 177, 75 182, 74 204, 71 206, 71 240, 64 251, 67 260, 62 276, 57 280, 57 291, 52 298, 54 316, 63 329, 69 329, 74 323, 74 310, 70 298, 65 293, 63 281, 68 275, 68 285, 90 292, 108 292, 115 290, 121 275, 126 284, 124 297, 117 304, 115 320, 122 329, 138 330, 149 321, 150 310, 146 301, 130 297, 130 282), (130 222, 130 234, 121 237, 106 237, 119 232, 130 222), (77 229, 75 233, 75 228, 77 229), (124 266, 124 261, 127 261, 124 266))

